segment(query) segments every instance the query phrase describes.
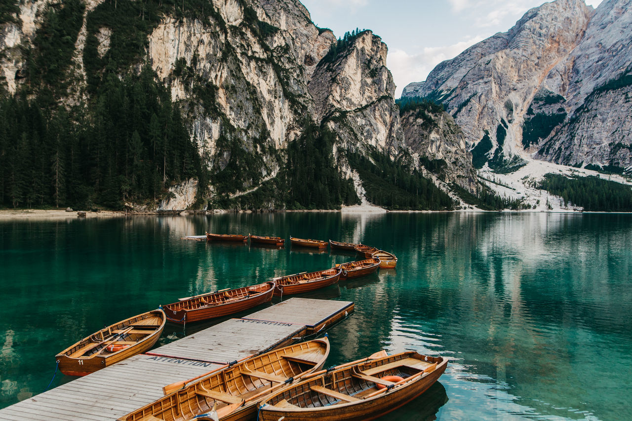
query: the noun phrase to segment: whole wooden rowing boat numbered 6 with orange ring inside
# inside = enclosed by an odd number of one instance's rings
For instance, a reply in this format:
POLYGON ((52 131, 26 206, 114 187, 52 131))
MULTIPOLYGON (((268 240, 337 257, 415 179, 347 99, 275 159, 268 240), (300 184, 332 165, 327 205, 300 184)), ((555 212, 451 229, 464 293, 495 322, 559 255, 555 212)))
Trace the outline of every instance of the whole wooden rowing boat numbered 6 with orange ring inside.
POLYGON ((446 358, 408 351, 310 375, 269 394, 259 420, 374 420, 420 396, 446 365, 446 358))

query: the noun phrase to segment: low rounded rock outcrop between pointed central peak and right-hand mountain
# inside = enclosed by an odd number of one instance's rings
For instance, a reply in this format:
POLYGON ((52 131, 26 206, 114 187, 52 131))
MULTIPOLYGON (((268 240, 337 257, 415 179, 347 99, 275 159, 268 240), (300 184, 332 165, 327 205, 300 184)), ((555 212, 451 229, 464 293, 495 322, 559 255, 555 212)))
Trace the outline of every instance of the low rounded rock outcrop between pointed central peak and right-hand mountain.
POLYGON ((447 185, 454 183, 478 193, 480 185, 465 135, 450 114, 412 109, 401 116, 401 126, 406 143, 422 166, 430 167, 427 170, 447 185))

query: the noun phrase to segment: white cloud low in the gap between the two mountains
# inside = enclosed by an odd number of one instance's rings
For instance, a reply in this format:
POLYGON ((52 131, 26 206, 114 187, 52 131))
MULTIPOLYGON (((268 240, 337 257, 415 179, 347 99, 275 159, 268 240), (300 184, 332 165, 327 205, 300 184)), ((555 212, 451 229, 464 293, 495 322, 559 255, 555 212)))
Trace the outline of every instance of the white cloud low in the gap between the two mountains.
POLYGON ((425 80, 428 73, 444 60, 454 58, 465 49, 485 39, 482 35, 467 37, 451 46, 425 47, 420 52, 409 54, 402 49, 389 51, 387 67, 397 85, 395 97, 401 96, 403 88, 411 82, 425 80))

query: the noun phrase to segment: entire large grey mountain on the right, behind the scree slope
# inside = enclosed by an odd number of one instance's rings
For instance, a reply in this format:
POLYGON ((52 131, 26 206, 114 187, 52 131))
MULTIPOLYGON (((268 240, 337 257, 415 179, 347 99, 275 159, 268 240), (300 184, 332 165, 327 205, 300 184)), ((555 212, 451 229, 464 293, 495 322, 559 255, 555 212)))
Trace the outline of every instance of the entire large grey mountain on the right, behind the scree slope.
POLYGON ((632 169, 629 0, 556 0, 439 64, 403 97, 446 106, 477 168, 499 173, 535 157, 632 169))

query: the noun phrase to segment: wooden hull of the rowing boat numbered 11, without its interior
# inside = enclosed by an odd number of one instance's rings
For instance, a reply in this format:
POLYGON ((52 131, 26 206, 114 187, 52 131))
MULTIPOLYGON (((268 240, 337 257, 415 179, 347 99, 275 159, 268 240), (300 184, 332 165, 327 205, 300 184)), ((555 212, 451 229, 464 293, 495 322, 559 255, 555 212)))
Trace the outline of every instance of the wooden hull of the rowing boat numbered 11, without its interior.
POLYGON ((155 345, 156 341, 158 341, 158 339, 160 338, 165 323, 166 317, 162 310, 154 310, 152 312, 147 312, 135 317, 131 317, 130 319, 119 322, 118 324, 114 324, 105 329, 102 329, 101 331, 82 339, 82 341, 79 341, 75 345, 56 355, 55 358, 59 362, 59 371, 66 375, 87 375, 90 373, 94 373, 95 371, 100 370, 104 367, 108 367, 109 365, 123 361, 126 358, 130 358, 133 355, 149 351, 152 346, 155 345), (101 337, 103 337, 103 335, 107 336, 107 334, 109 334, 108 332, 111 332, 112 329, 126 329, 127 327, 133 326, 133 324, 142 322, 142 320, 148 320, 147 317, 143 317, 147 314, 160 315, 160 319, 162 320, 161 324, 154 331, 151 331, 149 335, 145 336, 145 338, 140 339, 136 345, 131 345, 128 348, 125 348, 118 352, 99 354, 95 355, 94 357, 71 357, 73 353, 79 351, 82 346, 85 346, 85 344, 90 341, 90 338, 94 338, 100 333, 102 333, 101 337), (108 331, 108 329, 110 330, 108 331))

